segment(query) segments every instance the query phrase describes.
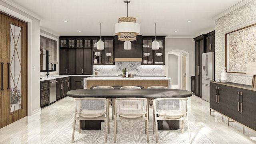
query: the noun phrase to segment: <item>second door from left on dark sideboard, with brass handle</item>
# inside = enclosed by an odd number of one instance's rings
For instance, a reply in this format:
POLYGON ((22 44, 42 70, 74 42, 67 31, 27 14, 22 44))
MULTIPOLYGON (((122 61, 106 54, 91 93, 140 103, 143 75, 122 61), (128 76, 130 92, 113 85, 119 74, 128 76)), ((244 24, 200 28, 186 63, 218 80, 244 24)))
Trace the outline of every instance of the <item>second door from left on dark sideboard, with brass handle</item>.
POLYGON ((218 86, 218 112, 228 116, 228 86, 218 86))

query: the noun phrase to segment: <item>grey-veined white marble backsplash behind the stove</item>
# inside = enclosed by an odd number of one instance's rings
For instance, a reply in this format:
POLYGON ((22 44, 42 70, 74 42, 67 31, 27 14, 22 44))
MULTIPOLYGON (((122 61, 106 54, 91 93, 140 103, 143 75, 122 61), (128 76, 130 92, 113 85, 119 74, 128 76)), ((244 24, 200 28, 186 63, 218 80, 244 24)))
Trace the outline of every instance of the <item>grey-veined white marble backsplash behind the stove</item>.
POLYGON ((116 62, 115 65, 93 65, 101 74, 122 74, 127 68, 131 74, 164 74, 164 65, 141 65, 141 62, 116 62))

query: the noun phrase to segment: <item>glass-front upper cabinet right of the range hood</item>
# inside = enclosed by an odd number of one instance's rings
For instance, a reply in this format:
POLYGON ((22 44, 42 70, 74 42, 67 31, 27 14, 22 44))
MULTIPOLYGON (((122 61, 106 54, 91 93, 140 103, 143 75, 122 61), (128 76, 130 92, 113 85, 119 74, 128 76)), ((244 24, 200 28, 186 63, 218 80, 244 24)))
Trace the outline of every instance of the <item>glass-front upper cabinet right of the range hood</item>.
POLYGON ((142 64, 164 65, 165 37, 166 36, 156 36, 156 40, 159 42, 159 50, 152 50, 152 42, 154 41, 154 36, 142 36, 142 64))

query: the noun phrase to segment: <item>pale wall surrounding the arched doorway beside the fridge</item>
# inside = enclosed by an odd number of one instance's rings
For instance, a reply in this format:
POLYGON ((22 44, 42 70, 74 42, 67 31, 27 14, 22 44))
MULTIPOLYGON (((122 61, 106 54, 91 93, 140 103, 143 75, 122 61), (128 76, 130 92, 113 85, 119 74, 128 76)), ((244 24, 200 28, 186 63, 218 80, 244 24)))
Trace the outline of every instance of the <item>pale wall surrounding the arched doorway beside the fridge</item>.
MULTIPOLYGON (((172 50, 184 50, 189 53, 189 74, 194 74, 195 73, 195 41, 192 38, 166 38, 165 54, 167 54, 172 50)), ((173 62, 169 61, 169 64, 173 65, 173 62)), ((166 70, 166 65, 164 69, 166 70)))

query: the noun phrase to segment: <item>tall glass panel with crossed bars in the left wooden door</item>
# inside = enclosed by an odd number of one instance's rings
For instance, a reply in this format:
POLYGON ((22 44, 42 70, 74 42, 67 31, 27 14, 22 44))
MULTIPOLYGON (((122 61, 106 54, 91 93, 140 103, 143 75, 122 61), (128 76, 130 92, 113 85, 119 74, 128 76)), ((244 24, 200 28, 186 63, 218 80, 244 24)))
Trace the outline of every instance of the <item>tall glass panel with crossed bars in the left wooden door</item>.
POLYGON ((22 28, 10 24, 10 63, 8 63, 8 77, 10 78, 10 112, 14 112, 23 107, 21 89, 21 30, 22 28))

